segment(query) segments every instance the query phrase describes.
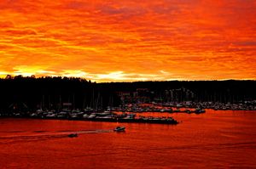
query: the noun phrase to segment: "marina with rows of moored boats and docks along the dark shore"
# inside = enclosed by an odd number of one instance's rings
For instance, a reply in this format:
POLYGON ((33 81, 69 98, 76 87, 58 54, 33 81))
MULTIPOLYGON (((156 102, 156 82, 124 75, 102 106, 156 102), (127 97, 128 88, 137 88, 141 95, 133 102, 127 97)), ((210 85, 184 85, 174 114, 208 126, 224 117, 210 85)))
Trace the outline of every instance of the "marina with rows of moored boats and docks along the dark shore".
POLYGON ((62 110, 30 110, 27 112, 2 112, 0 117, 26 117, 52 120, 72 120, 72 121, 108 121, 126 123, 154 123, 177 125, 179 121, 174 119, 175 114, 195 114, 200 115, 208 110, 256 110, 256 101, 244 102, 240 104, 220 104, 212 102, 183 102, 183 103, 140 103, 122 104, 119 107, 110 107, 106 110, 92 109, 87 107, 84 110, 62 109, 62 110), (159 114, 154 117, 150 113, 159 114), (163 115, 164 113, 170 115, 163 115), (143 115, 142 115, 143 114, 143 115))

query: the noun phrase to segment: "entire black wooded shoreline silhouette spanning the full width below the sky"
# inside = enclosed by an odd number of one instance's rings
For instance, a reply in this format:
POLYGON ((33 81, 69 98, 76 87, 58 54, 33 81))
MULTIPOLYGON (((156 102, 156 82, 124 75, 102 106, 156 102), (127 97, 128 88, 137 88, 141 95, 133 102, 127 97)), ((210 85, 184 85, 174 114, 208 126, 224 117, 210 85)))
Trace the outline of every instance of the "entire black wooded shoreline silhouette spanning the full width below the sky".
POLYGON ((145 96, 149 101, 161 98, 161 101, 236 103, 256 99, 256 81, 96 83, 75 77, 6 76, 0 79, 0 87, 1 111, 61 110, 65 106, 69 109, 106 109, 122 103, 118 92, 135 92, 138 88, 148 89, 145 96), (175 99, 173 91, 178 93, 175 99), (191 96, 186 97, 187 91, 191 96))

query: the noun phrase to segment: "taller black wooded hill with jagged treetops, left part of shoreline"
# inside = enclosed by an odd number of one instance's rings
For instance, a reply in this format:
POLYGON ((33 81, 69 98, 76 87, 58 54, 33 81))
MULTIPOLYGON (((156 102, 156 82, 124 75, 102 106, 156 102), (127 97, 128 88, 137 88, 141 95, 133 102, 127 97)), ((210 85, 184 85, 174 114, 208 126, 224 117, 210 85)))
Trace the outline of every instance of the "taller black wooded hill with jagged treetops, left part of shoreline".
POLYGON ((113 90, 82 78, 6 76, 0 79, 0 87, 1 110, 100 109, 119 105, 113 90))

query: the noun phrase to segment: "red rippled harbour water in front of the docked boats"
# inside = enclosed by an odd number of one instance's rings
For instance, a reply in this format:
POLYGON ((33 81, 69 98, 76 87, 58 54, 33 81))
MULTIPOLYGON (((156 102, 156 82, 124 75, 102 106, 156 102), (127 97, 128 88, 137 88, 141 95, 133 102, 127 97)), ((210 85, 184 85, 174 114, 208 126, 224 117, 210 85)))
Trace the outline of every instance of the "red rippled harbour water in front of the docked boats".
POLYGON ((0 168, 256 168, 255 111, 172 116, 183 122, 123 123, 122 133, 118 123, 2 118, 0 168))

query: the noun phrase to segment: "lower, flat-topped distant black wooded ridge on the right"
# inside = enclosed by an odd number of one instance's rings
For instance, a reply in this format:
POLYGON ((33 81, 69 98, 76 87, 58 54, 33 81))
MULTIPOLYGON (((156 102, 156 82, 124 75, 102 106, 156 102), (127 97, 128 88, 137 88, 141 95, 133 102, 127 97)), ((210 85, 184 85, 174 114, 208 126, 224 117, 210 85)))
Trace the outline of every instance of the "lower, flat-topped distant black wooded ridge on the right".
POLYGON ((112 82, 100 83, 98 85, 114 88, 117 91, 136 91, 137 88, 147 88, 148 96, 150 96, 151 99, 157 97, 161 98, 163 102, 211 101, 237 103, 240 101, 256 99, 256 81, 251 80, 112 82), (174 98, 171 98, 171 94, 174 98))

